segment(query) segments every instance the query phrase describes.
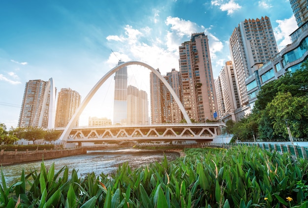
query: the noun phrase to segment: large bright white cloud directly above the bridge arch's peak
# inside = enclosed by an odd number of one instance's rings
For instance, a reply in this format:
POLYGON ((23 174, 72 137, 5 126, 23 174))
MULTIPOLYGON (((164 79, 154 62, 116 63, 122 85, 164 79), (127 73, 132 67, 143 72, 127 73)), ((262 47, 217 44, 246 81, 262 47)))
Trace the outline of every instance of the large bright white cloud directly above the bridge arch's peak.
MULTIPOLYGON (((153 33, 153 31, 157 31, 157 28, 136 29, 126 25, 123 35, 110 35, 107 40, 115 41, 112 42, 113 50, 118 51, 115 53, 123 61, 143 61, 154 68, 159 68, 161 74, 165 74, 172 68, 179 70, 179 46, 183 42, 189 41, 192 33, 204 32, 205 35, 208 35, 212 64, 217 63, 216 54, 221 53, 224 47, 228 47, 216 35, 210 33, 211 28, 205 29, 194 22, 169 16, 165 20, 165 26, 169 29, 166 33, 153 33), (123 44, 123 41, 126 44, 123 44)), ((155 27, 157 26, 155 25, 155 27)), ((117 61, 114 55, 110 55, 108 64, 114 67, 117 61)), ((221 61, 218 60, 218 63, 220 64, 221 61)))

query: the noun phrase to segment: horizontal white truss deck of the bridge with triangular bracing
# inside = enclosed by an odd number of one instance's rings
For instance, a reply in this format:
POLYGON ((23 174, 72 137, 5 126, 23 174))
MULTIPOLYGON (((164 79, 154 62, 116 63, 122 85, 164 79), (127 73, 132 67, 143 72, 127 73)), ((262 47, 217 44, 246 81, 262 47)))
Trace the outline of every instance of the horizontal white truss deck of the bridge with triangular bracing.
MULTIPOLYGON (((136 126, 75 127, 66 142, 103 142, 109 140, 196 140, 213 141, 223 123, 179 123, 136 126)), ((60 130, 60 129, 58 129, 60 130)))

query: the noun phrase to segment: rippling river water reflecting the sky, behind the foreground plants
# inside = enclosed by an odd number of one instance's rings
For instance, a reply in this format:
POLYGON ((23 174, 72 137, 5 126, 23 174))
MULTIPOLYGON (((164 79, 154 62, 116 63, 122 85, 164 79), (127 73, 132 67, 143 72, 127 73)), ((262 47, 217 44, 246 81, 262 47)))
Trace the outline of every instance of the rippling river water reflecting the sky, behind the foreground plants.
MULTIPOLYGON (((73 169, 78 170, 79 176, 85 176, 87 173, 94 172, 95 175, 100 173, 114 173, 120 164, 128 162, 131 168, 138 168, 151 162, 160 162, 164 154, 168 160, 174 160, 179 157, 177 152, 163 152, 156 150, 139 150, 132 148, 88 151, 84 155, 69 156, 56 158, 44 161, 47 169, 55 163, 55 173, 63 166, 67 166, 71 172, 73 169)), ((31 170, 40 170, 42 161, 35 161, 23 164, 16 164, 2 167, 7 186, 12 185, 20 179, 22 170, 25 170, 25 175, 31 170)), ((1 181, 2 183, 2 181, 1 181)))

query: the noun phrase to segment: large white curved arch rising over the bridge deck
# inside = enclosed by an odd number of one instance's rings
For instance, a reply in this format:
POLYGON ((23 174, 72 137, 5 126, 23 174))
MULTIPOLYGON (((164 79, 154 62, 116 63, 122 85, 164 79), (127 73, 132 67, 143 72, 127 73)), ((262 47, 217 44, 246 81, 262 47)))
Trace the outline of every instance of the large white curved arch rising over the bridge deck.
POLYGON ((158 73, 158 71, 156 71, 153 67, 151 67, 150 65, 143 63, 143 62, 139 62, 139 61, 129 61, 129 62, 124 62, 123 64, 120 64, 118 66, 116 66, 115 68, 111 69, 110 71, 108 71, 92 88, 92 90, 88 93, 88 95, 86 96, 85 100, 82 102, 82 104, 77 108, 76 112, 74 113, 73 117, 70 119, 70 121, 68 122, 67 126, 65 127, 60 139, 61 140, 67 140, 69 137, 69 133, 71 132, 74 124, 76 123, 77 119, 79 118, 80 114, 82 113, 82 111, 85 109, 85 107, 87 106, 87 104, 91 101, 93 95, 96 93, 96 91, 101 87, 101 85, 112 75, 114 74, 116 71, 118 71, 119 69, 122 69, 123 67, 126 66, 130 66, 130 65, 140 65, 143 66, 145 68, 150 69, 161 81, 162 83, 164 83, 164 85, 167 87, 167 89, 170 91, 171 95, 173 96, 173 98, 175 99, 175 101, 177 102, 177 104, 179 105, 183 116, 186 120, 186 122, 188 124, 191 124, 190 118, 187 115, 185 108, 183 106, 183 104, 181 103, 180 99, 178 98, 177 94, 174 92, 174 90, 172 89, 172 87, 169 85, 169 83, 166 81, 166 79, 160 74, 158 73))

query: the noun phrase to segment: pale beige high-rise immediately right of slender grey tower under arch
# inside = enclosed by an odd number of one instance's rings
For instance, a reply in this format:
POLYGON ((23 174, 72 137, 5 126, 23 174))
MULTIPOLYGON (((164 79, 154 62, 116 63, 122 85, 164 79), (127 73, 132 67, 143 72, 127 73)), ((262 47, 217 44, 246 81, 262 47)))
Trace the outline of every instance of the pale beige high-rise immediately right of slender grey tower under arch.
POLYGON ((137 87, 127 87, 127 120, 128 125, 149 124, 148 94, 137 87))

